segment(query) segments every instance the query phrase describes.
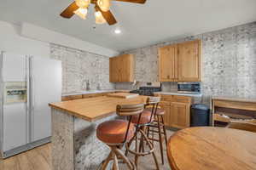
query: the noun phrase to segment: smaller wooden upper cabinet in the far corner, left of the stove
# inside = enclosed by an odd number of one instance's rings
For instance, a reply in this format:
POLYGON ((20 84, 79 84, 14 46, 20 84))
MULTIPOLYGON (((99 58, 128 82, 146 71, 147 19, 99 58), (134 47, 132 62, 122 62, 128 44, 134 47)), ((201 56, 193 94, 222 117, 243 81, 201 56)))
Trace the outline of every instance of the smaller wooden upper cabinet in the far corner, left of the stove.
POLYGON ((134 56, 123 54, 109 59, 109 82, 134 81, 134 56))

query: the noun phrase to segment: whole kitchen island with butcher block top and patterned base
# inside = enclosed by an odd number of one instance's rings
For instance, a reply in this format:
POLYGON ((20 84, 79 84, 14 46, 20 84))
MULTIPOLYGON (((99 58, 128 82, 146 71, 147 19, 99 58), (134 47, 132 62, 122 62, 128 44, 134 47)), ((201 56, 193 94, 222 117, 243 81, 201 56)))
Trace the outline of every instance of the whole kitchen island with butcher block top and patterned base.
POLYGON ((51 103, 52 170, 97 169, 109 148, 96 139, 96 127, 117 117, 117 105, 145 104, 146 96, 131 99, 95 97, 51 103))

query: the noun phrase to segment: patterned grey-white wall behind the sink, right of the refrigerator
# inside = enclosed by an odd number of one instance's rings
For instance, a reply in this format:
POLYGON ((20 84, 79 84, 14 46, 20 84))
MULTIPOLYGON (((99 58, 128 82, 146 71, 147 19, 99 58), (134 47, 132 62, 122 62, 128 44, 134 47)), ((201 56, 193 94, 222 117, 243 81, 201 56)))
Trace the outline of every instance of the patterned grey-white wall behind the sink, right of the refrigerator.
POLYGON ((62 61, 62 93, 81 91, 89 80, 90 89, 113 89, 109 82, 109 59, 78 49, 50 44, 52 59, 62 61))

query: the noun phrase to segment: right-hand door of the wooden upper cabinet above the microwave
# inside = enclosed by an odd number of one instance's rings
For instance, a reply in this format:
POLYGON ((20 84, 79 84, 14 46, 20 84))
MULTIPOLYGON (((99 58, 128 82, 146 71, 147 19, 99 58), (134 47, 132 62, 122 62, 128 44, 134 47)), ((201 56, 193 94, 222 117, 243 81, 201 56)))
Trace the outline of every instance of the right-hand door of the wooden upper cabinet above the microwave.
POLYGON ((178 81, 201 81, 201 41, 178 44, 178 81))

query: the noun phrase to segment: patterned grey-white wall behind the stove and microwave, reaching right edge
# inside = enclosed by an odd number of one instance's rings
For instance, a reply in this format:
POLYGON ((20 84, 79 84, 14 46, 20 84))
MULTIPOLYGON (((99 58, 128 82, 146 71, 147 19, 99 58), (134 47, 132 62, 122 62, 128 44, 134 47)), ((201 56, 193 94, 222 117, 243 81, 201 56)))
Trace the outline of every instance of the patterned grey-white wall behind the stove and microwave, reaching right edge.
MULTIPOLYGON (((256 22, 125 51, 136 56, 137 81, 158 80, 158 47, 196 38, 202 40, 204 101, 208 103, 212 95, 256 99, 256 22)), ((173 82, 163 85, 165 90, 175 87, 173 82)), ((117 88, 125 86, 124 83, 116 85, 117 88)))

